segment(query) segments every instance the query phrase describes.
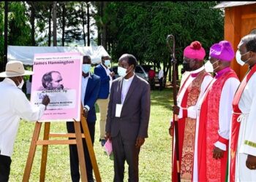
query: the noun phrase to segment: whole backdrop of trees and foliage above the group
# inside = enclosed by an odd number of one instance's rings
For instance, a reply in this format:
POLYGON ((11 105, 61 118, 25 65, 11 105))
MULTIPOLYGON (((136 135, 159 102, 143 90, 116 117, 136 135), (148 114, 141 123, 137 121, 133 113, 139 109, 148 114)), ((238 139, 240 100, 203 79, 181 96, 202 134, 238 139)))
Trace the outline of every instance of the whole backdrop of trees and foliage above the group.
MULTIPOLYGON (((167 75, 170 53, 166 37, 176 38, 176 59, 192 41, 200 41, 206 50, 223 39, 224 13, 214 9, 219 1, 58 1, 57 46, 101 44, 114 62, 126 52, 139 63, 162 63, 167 75), (86 7, 89 7, 86 9, 86 7), (89 13, 90 19, 86 19, 89 13), (89 23, 89 24, 88 24, 89 23), (86 31, 89 25, 89 31, 86 31), (97 34, 97 36, 95 36, 97 34), (93 36, 94 35, 94 36, 93 36)), ((0 55, 3 57, 4 2, 0 2, 0 55)), ((8 44, 52 45, 50 18, 52 2, 13 1, 9 3, 8 44), (32 13, 34 10, 34 13, 32 13), (33 19, 33 18, 34 19, 33 19), (33 21, 34 20, 34 24, 33 21), (34 31, 33 31, 34 30, 34 31), (50 31, 49 31, 50 30, 50 31), (34 35, 34 36, 33 36, 34 35)))

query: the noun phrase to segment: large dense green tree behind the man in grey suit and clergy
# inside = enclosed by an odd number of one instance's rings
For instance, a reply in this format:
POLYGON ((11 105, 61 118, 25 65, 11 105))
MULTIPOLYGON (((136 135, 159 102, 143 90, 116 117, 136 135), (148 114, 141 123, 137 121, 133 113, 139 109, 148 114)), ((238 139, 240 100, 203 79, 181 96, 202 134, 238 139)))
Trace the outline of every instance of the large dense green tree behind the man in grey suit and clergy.
POLYGON ((217 1, 112 1, 103 17, 96 20, 100 25, 101 19, 108 19, 113 57, 129 52, 140 63, 162 63, 166 75, 170 68, 168 34, 176 38, 178 63, 182 63, 183 50, 192 41, 200 41, 208 53, 211 44, 223 39, 223 12, 212 8, 216 4, 217 1))

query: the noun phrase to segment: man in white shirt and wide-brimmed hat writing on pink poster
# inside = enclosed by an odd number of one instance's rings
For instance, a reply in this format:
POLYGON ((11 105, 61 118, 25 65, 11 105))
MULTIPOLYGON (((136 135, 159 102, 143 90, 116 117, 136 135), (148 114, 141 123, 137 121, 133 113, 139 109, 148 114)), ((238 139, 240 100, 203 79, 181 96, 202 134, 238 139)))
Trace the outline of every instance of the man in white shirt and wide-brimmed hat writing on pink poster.
POLYGON ((24 84, 23 76, 31 74, 32 71, 25 71, 23 63, 16 60, 8 62, 6 71, 0 73, 0 77, 5 77, 0 82, 0 181, 9 180, 11 156, 20 118, 37 121, 50 103, 48 95, 45 95, 39 106, 29 103, 21 88, 24 84))

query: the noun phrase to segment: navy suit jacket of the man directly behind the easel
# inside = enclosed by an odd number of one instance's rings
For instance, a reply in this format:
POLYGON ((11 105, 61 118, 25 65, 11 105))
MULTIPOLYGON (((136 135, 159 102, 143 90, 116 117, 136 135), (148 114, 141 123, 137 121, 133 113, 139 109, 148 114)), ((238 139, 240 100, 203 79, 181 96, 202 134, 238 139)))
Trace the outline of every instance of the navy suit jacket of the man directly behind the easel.
POLYGON ((90 110, 87 116, 87 122, 96 122, 95 103, 99 94, 100 79, 99 76, 91 74, 86 87, 86 95, 84 97, 84 106, 89 106, 90 110))

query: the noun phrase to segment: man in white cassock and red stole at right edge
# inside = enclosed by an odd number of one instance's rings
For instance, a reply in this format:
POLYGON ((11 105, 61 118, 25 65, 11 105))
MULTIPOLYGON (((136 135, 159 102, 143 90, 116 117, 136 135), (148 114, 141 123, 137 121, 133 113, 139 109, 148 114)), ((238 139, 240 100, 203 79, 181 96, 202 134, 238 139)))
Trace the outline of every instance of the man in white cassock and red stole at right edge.
POLYGON ((256 180, 256 35, 238 44, 237 62, 249 66, 233 100, 229 181, 256 180))

